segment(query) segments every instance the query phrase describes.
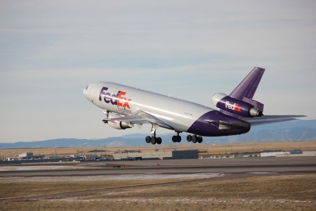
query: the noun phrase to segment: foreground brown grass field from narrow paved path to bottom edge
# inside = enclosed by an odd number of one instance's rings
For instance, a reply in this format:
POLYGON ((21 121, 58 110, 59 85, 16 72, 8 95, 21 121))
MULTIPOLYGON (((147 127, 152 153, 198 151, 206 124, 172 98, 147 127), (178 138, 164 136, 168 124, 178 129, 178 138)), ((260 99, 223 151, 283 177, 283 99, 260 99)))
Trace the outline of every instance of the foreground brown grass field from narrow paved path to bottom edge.
MULTIPOLYGON (((135 181, 133 181, 133 184, 135 184, 134 182, 135 181)), ((144 184, 146 184, 148 181, 138 182, 144 182, 144 184)), ((54 186, 59 186, 57 184, 58 183, 54 186)), ((126 184, 113 183, 112 185, 124 186, 126 184)), ((18 184, 13 187, 17 186, 18 184)), ((54 188, 49 183, 39 183, 38 186, 46 188, 47 190, 54 188)), ((32 191, 33 187, 34 186, 30 186, 27 188, 32 191)), ((316 210, 316 175, 261 176, 170 185, 169 187, 111 191, 99 194, 28 202, 0 203, 0 210, 3 211, 203 211, 223 209, 316 210)))

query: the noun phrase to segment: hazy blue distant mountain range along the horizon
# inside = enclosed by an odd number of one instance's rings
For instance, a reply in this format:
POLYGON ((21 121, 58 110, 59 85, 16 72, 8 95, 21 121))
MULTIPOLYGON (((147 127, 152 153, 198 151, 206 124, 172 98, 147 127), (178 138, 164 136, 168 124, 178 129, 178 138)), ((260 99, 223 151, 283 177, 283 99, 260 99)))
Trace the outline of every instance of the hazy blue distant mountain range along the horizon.
MULTIPOLYGON (((149 134, 149 133, 148 133, 149 134)), ((55 147, 136 147, 149 146, 145 142, 148 134, 128 134, 105 139, 52 139, 46 141, 1 143, 1 149, 14 148, 55 148, 55 147)), ((162 145, 175 145, 171 137, 175 133, 161 134, 162 145)), ((186 133, 181 134, 181 144, 193 144, 186 141, 186 133)), ((241 142, 270 142, 270 141, 314 141, 316 140, 316 120, 297 120, 252 127, 250 132, 225 137, 203 137, 203 144, 225 144, 241 142)))

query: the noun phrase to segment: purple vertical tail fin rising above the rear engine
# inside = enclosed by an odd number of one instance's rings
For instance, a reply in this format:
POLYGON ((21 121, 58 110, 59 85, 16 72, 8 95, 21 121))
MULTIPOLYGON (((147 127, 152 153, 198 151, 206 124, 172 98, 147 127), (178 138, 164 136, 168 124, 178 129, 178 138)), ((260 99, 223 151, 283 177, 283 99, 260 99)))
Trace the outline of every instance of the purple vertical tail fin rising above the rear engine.
POLYGON ((234 89, 234 91, 229 95, 232 98, 247 102, 259 110, 263 111, 263 104, 252 100, 263 73, 264 68, 255 67, 251 72, 240 82, 240 84, 234 89))

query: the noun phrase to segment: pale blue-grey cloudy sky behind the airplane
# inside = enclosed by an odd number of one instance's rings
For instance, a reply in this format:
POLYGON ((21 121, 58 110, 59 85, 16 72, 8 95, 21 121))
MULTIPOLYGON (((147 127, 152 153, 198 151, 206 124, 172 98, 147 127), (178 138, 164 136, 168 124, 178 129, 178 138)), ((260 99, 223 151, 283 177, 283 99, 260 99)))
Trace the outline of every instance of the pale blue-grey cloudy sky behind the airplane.
MULTIPOLYGON (((214 107, 255 66, 265 114, 316 118, 315 0, 0 1, 0 143, 116 130, 82 95, 112 81, 214 107)), ((159 128, 157 133, 171 131, 159 128)))

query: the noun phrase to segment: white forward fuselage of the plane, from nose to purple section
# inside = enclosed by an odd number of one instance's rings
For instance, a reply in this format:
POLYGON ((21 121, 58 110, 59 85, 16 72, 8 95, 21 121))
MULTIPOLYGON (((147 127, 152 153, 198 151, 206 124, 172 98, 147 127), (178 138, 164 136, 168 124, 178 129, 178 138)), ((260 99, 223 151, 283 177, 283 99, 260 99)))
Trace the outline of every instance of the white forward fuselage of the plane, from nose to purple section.
POLYGON ((213 110, 196 103, 111 82, 89 84, 83 90, 92 104, 122 115, 145 111, 163 119, 175 131, 186 132, 204 113, 213 110))

